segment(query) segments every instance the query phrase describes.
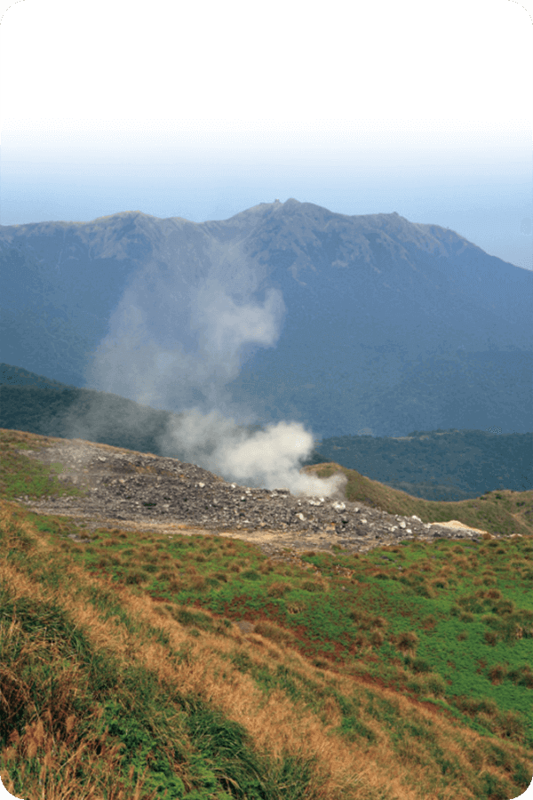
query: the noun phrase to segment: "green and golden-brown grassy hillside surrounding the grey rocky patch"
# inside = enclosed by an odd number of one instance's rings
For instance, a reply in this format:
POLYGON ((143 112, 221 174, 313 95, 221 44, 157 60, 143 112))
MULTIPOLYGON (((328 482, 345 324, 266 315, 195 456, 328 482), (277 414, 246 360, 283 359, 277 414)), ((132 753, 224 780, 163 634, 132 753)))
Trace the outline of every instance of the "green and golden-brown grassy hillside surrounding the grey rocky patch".
MULTIPOLYGON (((16 432, 1 442, 0 776, 13 795, 511 800, 528 788, 533 532, 520 519, 522 535, 291 563, 222 536, 90 536, 12 500, 21 486, 76 489, 14 452, 16 432)), ((359 479, 352 497, 402 495, 359 479)), ((513 518, 510 499, 484 502, 497 524, 513 518)))

